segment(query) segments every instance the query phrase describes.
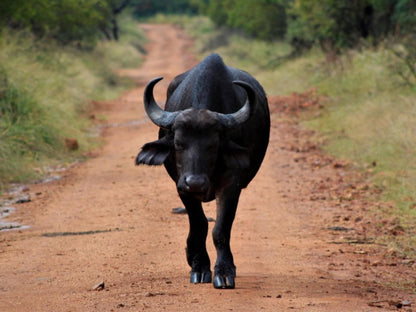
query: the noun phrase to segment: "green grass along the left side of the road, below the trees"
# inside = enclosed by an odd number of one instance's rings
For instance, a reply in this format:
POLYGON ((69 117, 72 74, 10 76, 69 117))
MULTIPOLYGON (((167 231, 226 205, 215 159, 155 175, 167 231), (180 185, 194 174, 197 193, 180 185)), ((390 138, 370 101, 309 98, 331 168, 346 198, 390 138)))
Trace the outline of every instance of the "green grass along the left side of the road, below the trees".
POLYGON ((123 18, 119 42, 91 49, 35 40, 28 32, 0 35, 0 191, 10 182, 38 178, 53 163, 82 157, 90 100, 116 97, 129 87, 114 73, 137 67, 144 42, 136 22, 123 18), (69 151, 65 138, 79 143, 69 151))

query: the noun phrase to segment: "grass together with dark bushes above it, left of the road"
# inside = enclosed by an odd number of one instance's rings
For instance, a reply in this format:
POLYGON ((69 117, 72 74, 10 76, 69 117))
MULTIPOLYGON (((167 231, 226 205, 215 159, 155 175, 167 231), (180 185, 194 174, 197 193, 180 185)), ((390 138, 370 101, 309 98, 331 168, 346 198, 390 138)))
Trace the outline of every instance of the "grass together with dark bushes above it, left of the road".
MULTIPOLYGON (((0 13, 9 10, 0 25, 0 192, 82 158, 97 143, 91 100, 114 98, 131 86, 115 70, 138 67, 144 43, 130 15, 117 16, 115 40, 102 32, 99 12, 78 12, 76 1, 20 4, 2 1, 0 13), (58 13, 50 10, 59 5, 72 16, 55 19, 58 13), (100 27, 76 22, 85 16, 95 16, 100 27), (72 22, 78 28, 69 29, 72 22)), ((112 29, 111 18, 106 25, 112 29)))

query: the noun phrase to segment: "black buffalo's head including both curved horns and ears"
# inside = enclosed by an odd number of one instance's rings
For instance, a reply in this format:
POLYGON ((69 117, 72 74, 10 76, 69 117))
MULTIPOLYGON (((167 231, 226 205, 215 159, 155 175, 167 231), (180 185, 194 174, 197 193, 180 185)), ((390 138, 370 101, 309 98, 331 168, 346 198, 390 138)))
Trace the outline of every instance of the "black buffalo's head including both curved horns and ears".
POLYGON ((179 193, 192 193, 204 198, 212 191, 212 180, 219 171, 247 168, 248 150, 227 138, 227 130, 237 128, 250 117, 250 106, 256 96, 252 87, 234 81, 247 93, 247 101, 237 112, 222 114, 206 109, 188 108, 168 112, 153 97, 153 88, 162 78, 149 82, 144 92, 144 105, 149 118, 167 130, 161 139, 145 144, 136 164, 161 165, 171 155, 176 165, 179 193), (172 154, 174 153, 174 154, 172 154))

